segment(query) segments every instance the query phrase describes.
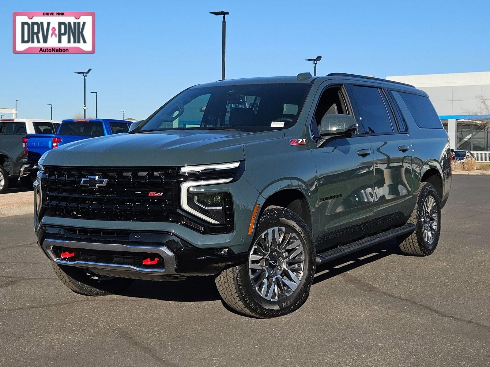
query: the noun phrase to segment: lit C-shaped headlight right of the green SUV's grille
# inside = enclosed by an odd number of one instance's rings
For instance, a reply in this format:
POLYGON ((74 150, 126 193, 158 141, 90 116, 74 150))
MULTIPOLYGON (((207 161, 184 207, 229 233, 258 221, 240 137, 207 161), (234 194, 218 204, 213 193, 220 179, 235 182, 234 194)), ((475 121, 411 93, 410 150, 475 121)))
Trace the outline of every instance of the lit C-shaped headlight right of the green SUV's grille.
POLYGON ((222 192, 203 192, 196 186, 226 184, 232 179, 189 181, 180 186, 180 204, 182 208, 196 217, 212 224, 225 223, 225 195, 222 192))

